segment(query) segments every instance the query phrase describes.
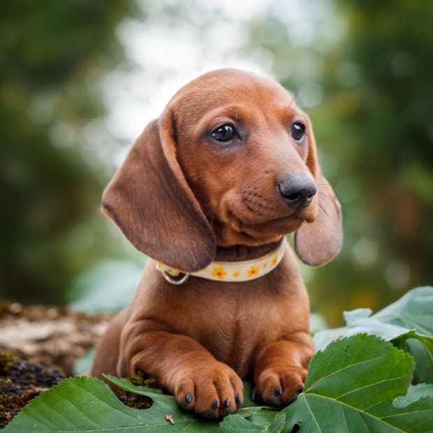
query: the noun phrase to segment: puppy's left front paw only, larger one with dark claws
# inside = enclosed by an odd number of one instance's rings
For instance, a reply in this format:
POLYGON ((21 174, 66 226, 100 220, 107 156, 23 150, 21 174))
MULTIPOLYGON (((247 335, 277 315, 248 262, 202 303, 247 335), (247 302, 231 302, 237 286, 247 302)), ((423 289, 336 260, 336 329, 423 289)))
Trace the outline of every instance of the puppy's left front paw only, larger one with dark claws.
POLYGON ((175 383, 175 397, 183 409, 205 418, 221 418, 242 406, 243 383, 222 362, 184 369, 175 383))

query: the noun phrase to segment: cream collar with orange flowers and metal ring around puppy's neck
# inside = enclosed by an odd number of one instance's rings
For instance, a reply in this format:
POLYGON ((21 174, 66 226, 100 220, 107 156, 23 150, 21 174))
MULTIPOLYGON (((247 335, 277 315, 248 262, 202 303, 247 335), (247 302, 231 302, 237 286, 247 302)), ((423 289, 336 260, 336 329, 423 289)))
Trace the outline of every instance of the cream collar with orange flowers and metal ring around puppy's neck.
POLYGON ((163 273, 164 278, 171 284, 182 284, 190 275, 215 281, 235 282, 250 281, 269 274, 280 263, 284 256, 286 247, 286 237, 283 238, 277 249, 271 251, 260 258, 253 260, 244 260, 241 262, 220 262, 212 261, 205 269, 198 272, 185 273, 181 270, 164 265, 161 262, 156 263, 156 269, 163 273), (180 279, 176 279, 182 275, 180 279))

